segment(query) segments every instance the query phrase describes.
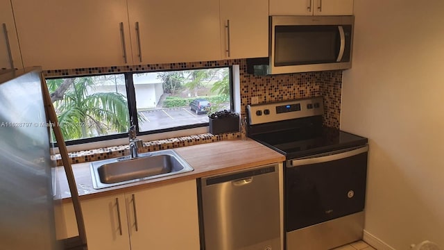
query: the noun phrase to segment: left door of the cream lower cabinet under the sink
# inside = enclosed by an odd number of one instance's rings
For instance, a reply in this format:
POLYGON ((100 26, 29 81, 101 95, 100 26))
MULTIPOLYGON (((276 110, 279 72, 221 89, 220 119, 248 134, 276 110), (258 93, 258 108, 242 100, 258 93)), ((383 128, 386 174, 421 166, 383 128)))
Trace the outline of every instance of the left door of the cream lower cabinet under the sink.
POLYGON ((82 201, 88 250, 130 250, 125 196, 82 201))

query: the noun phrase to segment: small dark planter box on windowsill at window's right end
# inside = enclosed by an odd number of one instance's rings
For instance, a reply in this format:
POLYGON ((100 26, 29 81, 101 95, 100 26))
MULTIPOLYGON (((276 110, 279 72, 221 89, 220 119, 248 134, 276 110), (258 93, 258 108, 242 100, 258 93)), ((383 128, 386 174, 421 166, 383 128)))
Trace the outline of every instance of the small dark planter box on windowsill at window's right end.
POLYGON ((223 110, 208 115, 208 123, 213 135, 239 132, 239 114, 231 111, 223 110))

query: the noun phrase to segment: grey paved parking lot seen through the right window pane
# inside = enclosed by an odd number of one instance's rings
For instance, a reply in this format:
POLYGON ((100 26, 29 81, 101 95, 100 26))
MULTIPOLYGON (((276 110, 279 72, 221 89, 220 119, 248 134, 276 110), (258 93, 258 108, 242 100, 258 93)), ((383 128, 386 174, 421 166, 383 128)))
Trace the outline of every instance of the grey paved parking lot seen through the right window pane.
POLYGON ((196 115, 196 113, 189 110, 189 107, 147 110, 139 112, 139 115, 146 119, 145 122, 139 122, 139 131, 208 122, 207 114, 196 115))

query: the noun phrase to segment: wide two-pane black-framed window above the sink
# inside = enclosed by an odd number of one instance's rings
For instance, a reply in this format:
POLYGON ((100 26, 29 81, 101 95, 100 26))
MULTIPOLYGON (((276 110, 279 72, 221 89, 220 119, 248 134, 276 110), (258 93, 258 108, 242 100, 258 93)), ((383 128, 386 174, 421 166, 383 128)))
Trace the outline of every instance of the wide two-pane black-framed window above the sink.
POLYGON ((232 109, 230 67, 46 79, 67 144, 207 126, 232 109), (132 118, 133 117, 133 118, 132 118), (137 119, 135 119, 137 117, 137 119))

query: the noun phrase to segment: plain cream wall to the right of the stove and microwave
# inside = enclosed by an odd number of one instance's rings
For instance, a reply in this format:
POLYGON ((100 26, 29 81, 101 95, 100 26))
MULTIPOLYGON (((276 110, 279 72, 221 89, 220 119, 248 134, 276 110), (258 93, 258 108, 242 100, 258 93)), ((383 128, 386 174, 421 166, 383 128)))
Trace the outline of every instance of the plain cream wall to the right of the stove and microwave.
POLYGON ((444 1, 355 0, 341 128, 370 140, 365 230, 444 249, 444 1))

